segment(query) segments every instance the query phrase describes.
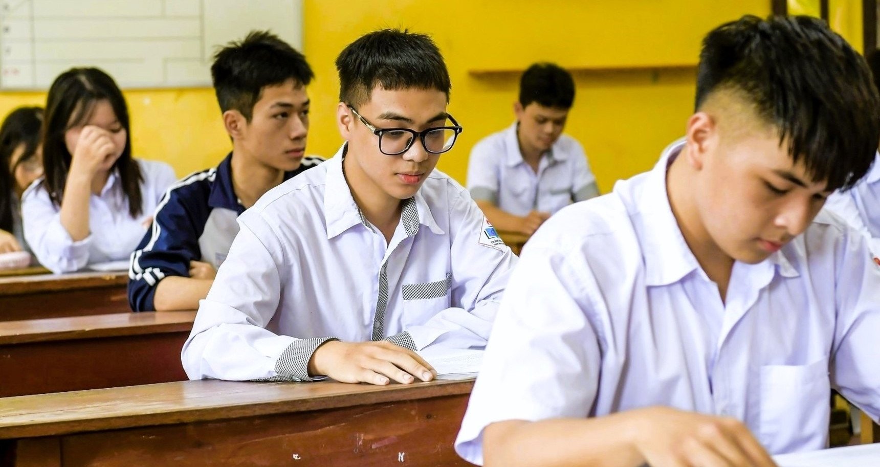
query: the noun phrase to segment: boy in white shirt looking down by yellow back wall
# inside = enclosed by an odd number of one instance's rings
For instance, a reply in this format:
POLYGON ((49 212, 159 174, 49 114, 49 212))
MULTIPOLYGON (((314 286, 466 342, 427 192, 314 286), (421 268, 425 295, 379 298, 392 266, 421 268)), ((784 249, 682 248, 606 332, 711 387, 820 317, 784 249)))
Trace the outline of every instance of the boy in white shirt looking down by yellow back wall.
POLYGON ((517 121, 477 142, 467 188, 495 228, 532 235, 547 217, 598 196, 581 143, 562 135, 575 81, 553 63, 535 63, 519 82, 517 121))

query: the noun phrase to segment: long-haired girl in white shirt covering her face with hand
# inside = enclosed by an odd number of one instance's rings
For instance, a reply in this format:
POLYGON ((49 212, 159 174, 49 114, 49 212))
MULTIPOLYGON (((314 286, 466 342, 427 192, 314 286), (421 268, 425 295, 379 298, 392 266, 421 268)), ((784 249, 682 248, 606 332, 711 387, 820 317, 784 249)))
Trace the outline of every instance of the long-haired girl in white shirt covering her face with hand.
POLYGON ((132 156, 128 106, 112 77, 75 68, 49 88, 44 177, 22 198, 25 238, 55 273, 128 259, 176 177, 132 156))

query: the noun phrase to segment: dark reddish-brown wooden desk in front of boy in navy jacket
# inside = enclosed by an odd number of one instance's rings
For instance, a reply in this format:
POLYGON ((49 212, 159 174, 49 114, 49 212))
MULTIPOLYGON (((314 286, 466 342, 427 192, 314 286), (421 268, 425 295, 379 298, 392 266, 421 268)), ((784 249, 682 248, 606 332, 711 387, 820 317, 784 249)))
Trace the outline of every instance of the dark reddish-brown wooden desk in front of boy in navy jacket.
POLYGON ((194 318, 128 312, 0 323, 0 398, 185 380, 180 349, 194 318))

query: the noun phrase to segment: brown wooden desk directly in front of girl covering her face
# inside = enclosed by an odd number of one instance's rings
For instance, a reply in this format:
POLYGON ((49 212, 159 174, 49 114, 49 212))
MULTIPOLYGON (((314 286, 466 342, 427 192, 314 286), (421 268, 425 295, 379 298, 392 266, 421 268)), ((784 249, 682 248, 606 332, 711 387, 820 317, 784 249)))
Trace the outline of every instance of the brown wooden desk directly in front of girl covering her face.
POLYGON ((0 321, 129 311, 127 286, 126 273, 0 277, 0 321))

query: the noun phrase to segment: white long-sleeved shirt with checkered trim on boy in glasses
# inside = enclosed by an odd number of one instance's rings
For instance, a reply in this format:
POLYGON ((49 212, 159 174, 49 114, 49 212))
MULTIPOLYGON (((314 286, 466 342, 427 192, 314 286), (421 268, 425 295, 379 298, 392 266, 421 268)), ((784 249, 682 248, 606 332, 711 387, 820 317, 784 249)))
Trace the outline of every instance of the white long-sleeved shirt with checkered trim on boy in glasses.
POLYGON ((348 189, 345 149, 238 216, 183 347, 191 379, 309 380, 307 362, 330 337, 485 346, 517 257, 440 171, 405 202, 386 243, 348 189))

